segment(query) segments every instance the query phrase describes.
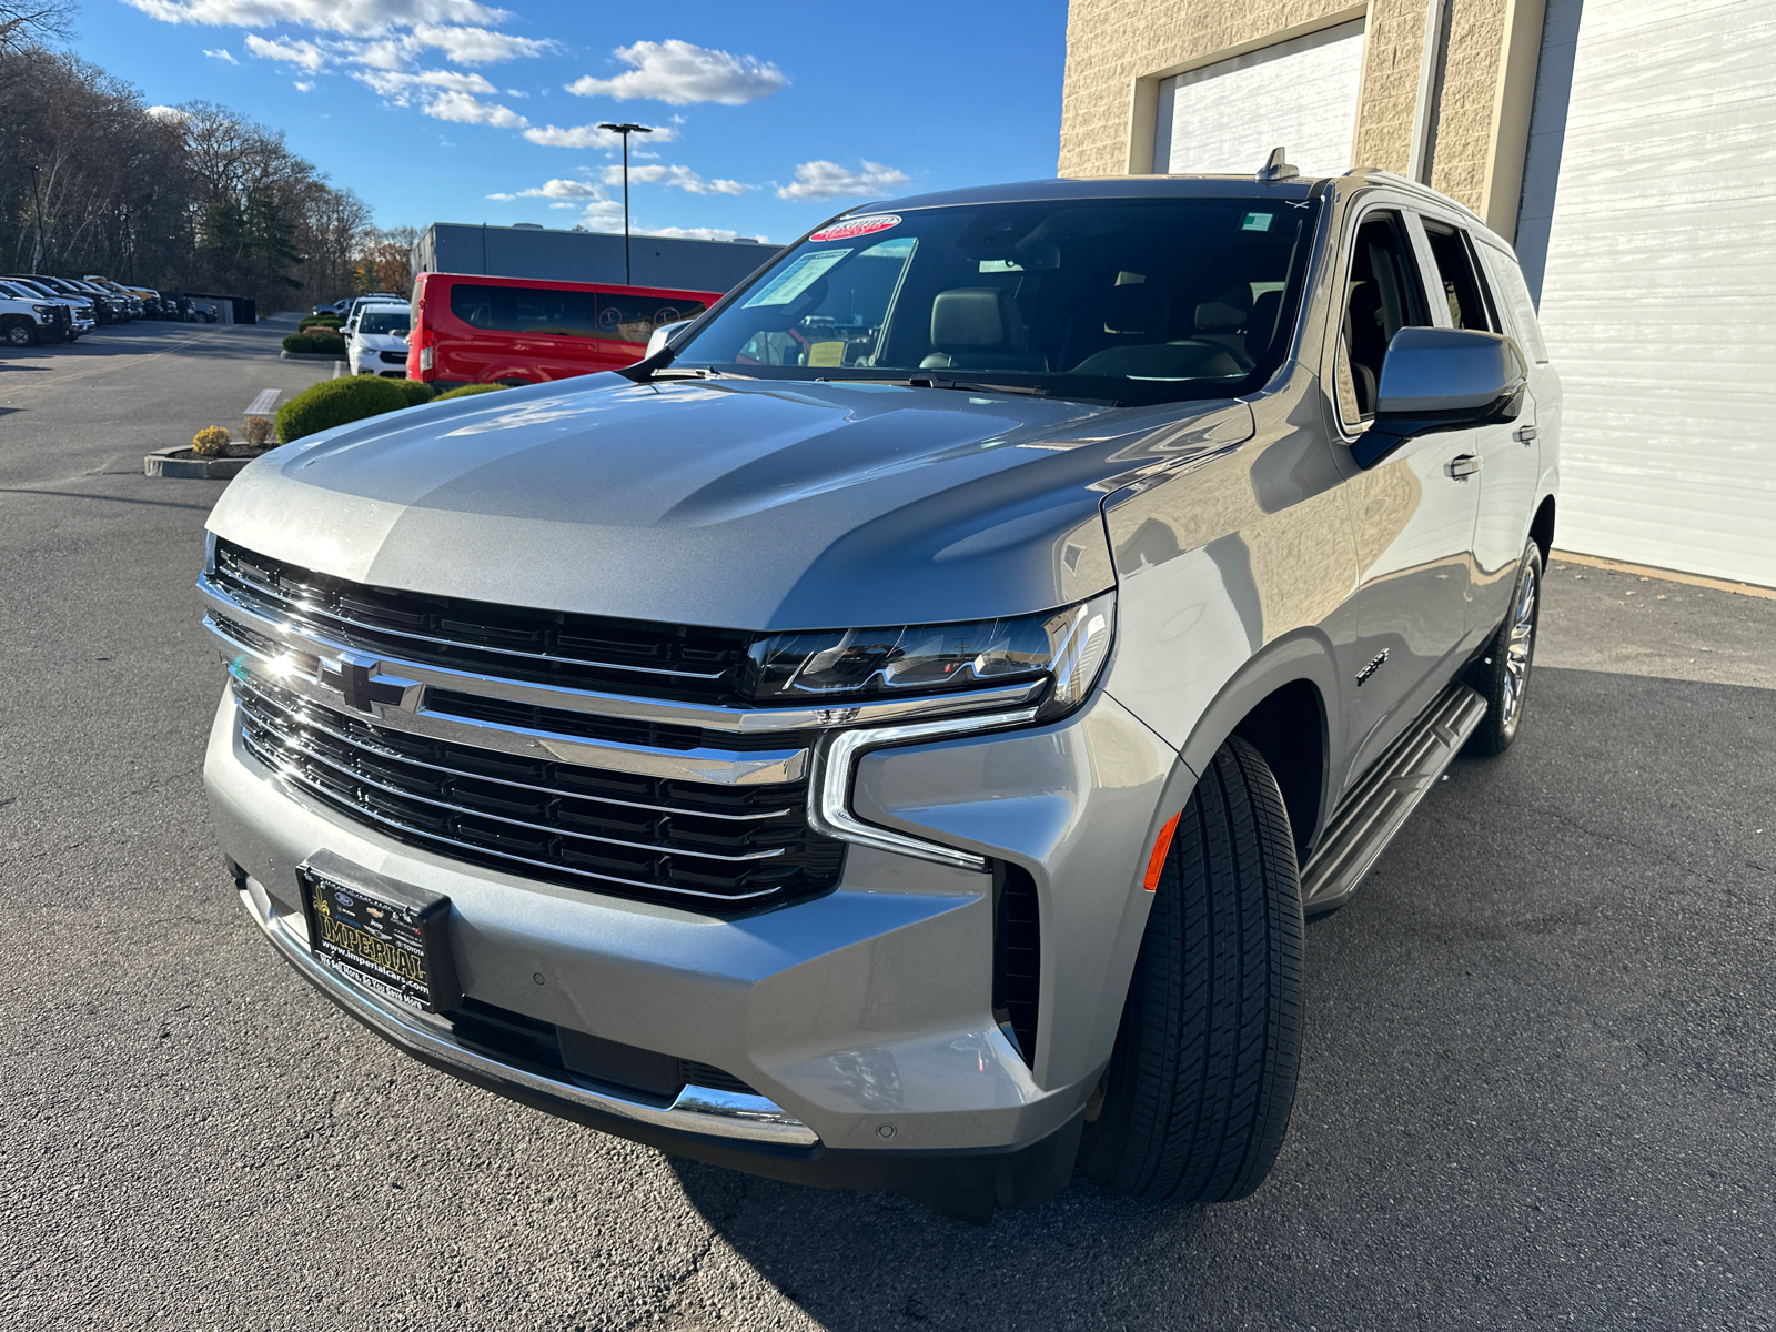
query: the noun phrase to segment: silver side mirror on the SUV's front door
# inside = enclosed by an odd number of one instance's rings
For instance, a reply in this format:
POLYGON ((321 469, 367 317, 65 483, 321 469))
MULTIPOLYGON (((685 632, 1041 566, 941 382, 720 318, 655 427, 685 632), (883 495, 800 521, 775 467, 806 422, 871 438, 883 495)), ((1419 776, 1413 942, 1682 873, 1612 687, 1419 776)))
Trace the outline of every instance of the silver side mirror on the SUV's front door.
POLYGON ((1375 419, 1350 446, 1373 467, 1408 439, 1515 421, 1529 364, 1502 334, 1472 329, 1401 329, 1387 345, 1375 419))

